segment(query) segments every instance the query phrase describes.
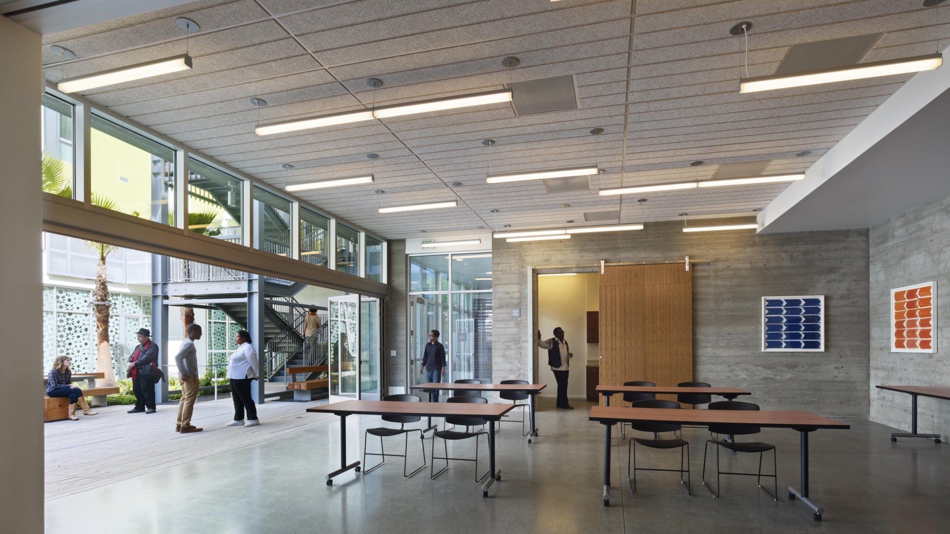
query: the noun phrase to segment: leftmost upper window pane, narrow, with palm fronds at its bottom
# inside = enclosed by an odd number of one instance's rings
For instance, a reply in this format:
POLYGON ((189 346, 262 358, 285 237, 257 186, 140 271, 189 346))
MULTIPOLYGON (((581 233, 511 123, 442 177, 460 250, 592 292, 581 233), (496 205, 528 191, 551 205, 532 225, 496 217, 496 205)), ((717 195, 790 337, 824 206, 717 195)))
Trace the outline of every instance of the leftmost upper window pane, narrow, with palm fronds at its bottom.
POLYGON ((43 190, 72 198, 73 107, 56 97, 43 95, 43 190))

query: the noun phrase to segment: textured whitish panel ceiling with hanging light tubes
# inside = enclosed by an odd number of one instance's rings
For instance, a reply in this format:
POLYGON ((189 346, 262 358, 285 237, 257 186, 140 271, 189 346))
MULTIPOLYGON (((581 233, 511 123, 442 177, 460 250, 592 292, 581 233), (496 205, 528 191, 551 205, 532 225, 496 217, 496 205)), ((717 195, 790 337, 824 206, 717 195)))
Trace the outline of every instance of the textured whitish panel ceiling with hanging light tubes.
MULTIPOLYGON (((933 53, 939 45, 938 10, 921 0, 640 0, 632 16, 634 7, 631 0, 202 0, 44 42, 76 53, 66 63, 69 76, 187 50, 190 71, 83 94, 277 187, 372 172, 372 184, 296 196, 386 238, 583 225, 584 212, 617 209, 622 222, 751 215, 786 185, 653 193, 645 202, 596 190, 710 178, 723 162, 770 160, 767 173, 805 170, 910 79, 739 94, 744 43, 729 34, 737 22, 752 22, 750 76, 774 73, 799 43, 883 32, 863 62, 933 53), (185 39, 178 16, 201 31, 185 39), (521 65, 503 67, 506 56, 521 65), (580 108, 530 116, 485 105, 259 137, 248 102, 267 101, 261 118, 273 122, 565 74, 576 78, 580 108), (372 90, 370 77, 385 86, 372 90), (604 133, 589 134, 595 127, 604 133), (584 163, 607 172, 591 177, 589 190, 557 194, 542 181, 486 184, 485 139, 497 141, 493 172, 584 163), (704 163, 690 166, 697 160, 704 163), (456 198, 454 209, 376 212, 456 198)), ((60 80, 58 56, 48 48, 44 54, 47 79, 60 80)))

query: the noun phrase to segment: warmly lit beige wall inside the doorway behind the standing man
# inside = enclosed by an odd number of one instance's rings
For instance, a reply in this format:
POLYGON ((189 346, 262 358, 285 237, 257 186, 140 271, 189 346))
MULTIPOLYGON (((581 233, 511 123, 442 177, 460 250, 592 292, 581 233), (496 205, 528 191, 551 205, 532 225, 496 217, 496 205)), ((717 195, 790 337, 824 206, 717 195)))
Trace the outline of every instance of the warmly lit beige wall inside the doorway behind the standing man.
MULTIPOLYGON (((598 300, 596 274, 538 277, 538 326, 542 339, 553 336, 554 329, 560 326, 564 329, 564 338, 571 347, 571 353, 574 353, 567 382, 568 396, 587 395, 585 366, 591 358, 591 348, 594 350, 594 359, 597 359, 597 345, 587 343, 587 311, 597 310, 598 300)), ((541 351, 540 358, 538 379, 548 385, 544 393, 553 396, 557 393, 557 382, 551 368, 546 365, 547 352, 541 351)))

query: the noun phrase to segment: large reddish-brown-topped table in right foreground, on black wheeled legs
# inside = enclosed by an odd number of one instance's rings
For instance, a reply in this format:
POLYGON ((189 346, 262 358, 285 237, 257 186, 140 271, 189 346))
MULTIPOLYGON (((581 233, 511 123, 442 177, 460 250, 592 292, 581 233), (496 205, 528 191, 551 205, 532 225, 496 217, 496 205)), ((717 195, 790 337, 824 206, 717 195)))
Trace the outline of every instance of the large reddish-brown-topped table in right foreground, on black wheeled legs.
MULTIPOLYGON (((699 389, 699 388, 697 388, 699 389)), ((701 388, 708 390, 709 388, 701 388)), ((610 428, 617 423, 673 423, 699 425, 751 425, 776 429, 793 429, 802 440, 802 489, 788 486, 788 499, 796 497, 815 511, 815 521, 821 521, 825 508, 808 500, 808 432, 817 429, 850 429, 849 425, 808 411, 747 411, 747 410, 661 410, 656 408, 627 408, 595 406, 591 421, 604 426, 603 440, 603 505, 610 505, 610 428)))

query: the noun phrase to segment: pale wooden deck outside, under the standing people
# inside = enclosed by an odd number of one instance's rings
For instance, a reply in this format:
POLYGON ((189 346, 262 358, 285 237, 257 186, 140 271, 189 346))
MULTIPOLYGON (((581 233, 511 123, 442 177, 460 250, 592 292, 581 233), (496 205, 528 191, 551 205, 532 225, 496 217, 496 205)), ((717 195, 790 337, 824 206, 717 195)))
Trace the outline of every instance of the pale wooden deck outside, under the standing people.
POLYGON ((336 420, 332 414, 307 413, 326 403, 268 402, 257 406, 259 427, 225 427, 234 417, 231 399, 201 402, 192 424, 204 431, 175 432, 178 406, 155 413, 125 413, 129 406, 96 409, 79 421, 45 424, 47 501, 119 480, 278 438, 336 420))

